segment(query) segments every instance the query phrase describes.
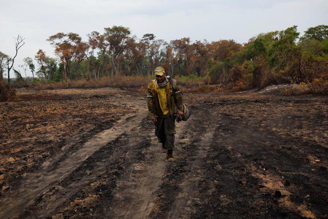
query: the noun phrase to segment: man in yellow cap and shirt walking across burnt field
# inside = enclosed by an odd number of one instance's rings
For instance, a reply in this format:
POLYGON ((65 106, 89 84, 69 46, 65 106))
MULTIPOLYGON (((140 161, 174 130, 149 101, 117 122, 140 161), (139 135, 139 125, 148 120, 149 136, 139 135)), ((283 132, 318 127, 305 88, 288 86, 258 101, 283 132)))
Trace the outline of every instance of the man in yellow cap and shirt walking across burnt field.
POLYGON ((157 67, 154 73, 156 79, 147 87, 148 110, 155 123, 155 134, 162 147, 167 149, 166 159, 173 160, 174 121, 176 114, 183 116, 182 92, 174 79, 166 77, 163 67, 157 67))

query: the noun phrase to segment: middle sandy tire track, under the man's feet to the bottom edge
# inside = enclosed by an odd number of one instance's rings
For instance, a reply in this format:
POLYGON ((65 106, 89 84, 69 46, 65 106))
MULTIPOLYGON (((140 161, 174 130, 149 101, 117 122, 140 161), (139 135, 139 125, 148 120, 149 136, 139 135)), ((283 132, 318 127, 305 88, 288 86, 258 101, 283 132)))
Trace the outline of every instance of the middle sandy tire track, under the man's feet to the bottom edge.
MULTIPOLYGON (((186 129, 187 123, 177 124, 176 139, 180 138, 181 132, 186 129)), ((106 213, 113 219, 144 219, 153 210, 154 200, 158 196, 158 189, 167 174, 166 150, 158 143, 154 135, 154 125, 150 124, 147 130, 147 138, 151 141, 151 147, 144 151, 144 159, 135 163, 127 170, 118 181, 111 208, 106 213)), ((174 150, 175 159, 178 158, 174 150)))

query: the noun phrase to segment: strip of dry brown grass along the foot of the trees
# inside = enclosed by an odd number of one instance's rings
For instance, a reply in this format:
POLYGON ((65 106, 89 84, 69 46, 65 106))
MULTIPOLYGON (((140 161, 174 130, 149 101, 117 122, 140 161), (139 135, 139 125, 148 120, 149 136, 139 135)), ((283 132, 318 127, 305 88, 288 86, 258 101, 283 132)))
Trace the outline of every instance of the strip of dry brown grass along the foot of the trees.
MULTIPOLYGON (((79 81, 63 81, 53 84, 41 83, 33 85, 34 90, 58 90, 58 89, 90 89, 90 88, 121 88, 121 89, 134 89, 137 92, 145 93, 147 85, 154 79, 154 76, 115 76, 103 77, 99 80, 79 80, 79 81)), ((222 85, 208 85, 205 80, 185 80, 185 78, 176 78, 183 92, 222 92, 222 91, 246 91, 250 87, 245 83, 244 80, 239 80, 234 86, 222 85)), ((0 100, 5 99, 2 93, 5 87, 0 85, 0 100)), ((7 91, 8 92, 8 91, 7 91)), ((10 93, 10 91, 9 91, 10 93)), ((325 78, 315 79, 312 83, 301 83, 298 86, 288 87, 282 90, 285 95, 301 95, 301 94, 317 94, 327 95, 328 94, 328 80, 325 78)), ((9 96, 11 96, 9 94, 9 96)), ((6 99, 7 100, 7 99, 6 99)))

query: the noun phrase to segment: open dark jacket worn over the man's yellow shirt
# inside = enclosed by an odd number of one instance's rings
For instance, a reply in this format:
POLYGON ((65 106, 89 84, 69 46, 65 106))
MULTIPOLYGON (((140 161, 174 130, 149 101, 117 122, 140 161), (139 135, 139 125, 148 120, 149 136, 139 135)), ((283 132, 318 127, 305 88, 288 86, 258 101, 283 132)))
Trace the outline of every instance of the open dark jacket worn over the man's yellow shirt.
MULTIPOLYGON (((175 84, 175 97, 176 97, 176 105, 173 97, 173 88, 171 82, 174 79, 166 79, 166 97, 167 97, 167 108, 170 115, 173 115, 176 111, 183 111, 183 101, 182 101, 182 92, 179 89, 179 86, 176 82, 175 84), (176 108, 176 109, 175 109, 176 108), (176 111, 175 111, 176 110, 176 111)), ((175 81, 175 80, 174 80, 175 81)), ((159 87, 157 85, 157 80, 153 80, 149 83, 147 87, 147 104, 148 110, 151 117, 154 116, 163 116, 163 112, 160 106, 159 98, 158 98, 159 87)))

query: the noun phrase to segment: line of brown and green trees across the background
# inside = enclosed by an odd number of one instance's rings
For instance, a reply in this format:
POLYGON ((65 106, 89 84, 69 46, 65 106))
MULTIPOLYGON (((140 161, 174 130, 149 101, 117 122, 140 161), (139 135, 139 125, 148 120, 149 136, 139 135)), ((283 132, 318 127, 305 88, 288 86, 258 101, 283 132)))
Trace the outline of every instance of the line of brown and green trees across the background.
MULTIPOLYGON (((78 33, 57 33, 47 41, 57 59, 40 49, 34 60, 19 66, 47 82, 99 79, 106 76, 151 75, 163 66, 171 76, 205 77, 209 83, 241 88, 277 83, 311 83, 328 80, 328 26, 310 27, 303 36, 297 26, 258 34, 245 44, 234 40, 191 41, 189 37, 166 42, 152 33, 140 39, 123 26, 92 31, 83 41, 78 33), (35 72, 34 61, 39 65, 35 72)), ((24 44, 17 37, 16 55, 24 44)), ((9 73, 16 57, 0 52, 0 78, 9 73)), ((15 70, 16 78, 22 78, 15 70)))

